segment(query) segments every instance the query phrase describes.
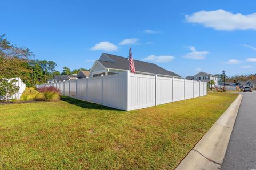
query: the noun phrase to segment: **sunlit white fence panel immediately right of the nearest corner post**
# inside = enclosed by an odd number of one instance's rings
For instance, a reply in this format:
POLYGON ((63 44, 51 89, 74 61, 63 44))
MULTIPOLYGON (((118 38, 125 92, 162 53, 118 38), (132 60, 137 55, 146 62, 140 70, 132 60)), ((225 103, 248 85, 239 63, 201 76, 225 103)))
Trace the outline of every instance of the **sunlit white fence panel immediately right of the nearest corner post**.
POLYGON ((128 110, 155 106, 155 76, 129 74, 128 110))

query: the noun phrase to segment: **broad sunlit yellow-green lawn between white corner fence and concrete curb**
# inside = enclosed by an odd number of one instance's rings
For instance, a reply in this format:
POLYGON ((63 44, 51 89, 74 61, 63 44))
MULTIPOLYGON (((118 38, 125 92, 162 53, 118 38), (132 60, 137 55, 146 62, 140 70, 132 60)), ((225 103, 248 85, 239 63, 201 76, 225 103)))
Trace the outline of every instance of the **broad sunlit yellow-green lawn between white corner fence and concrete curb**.
POLYGON ((0 106, 0 169, 173 169, 237 95, 130 112, 66 96, 0 106))

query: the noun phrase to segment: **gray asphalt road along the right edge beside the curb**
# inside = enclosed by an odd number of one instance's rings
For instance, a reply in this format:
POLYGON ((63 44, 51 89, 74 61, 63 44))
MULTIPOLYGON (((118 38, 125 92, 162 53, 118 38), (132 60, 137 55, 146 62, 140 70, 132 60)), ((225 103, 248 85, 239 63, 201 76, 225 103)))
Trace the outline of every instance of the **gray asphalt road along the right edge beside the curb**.
POLYGON ((256 91, 245 92, 221 170, 256 170, 256 91))

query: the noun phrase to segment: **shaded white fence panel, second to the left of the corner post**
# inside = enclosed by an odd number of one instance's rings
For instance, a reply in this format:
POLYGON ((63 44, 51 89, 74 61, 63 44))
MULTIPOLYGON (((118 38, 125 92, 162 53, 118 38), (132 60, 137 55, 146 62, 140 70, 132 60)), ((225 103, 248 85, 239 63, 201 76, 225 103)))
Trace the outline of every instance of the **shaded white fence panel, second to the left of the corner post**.
POLYGON ((102 104, 102 80, 101 76, 99 77, 89 77, 88 80, 88 94, 87 100, 102 104))

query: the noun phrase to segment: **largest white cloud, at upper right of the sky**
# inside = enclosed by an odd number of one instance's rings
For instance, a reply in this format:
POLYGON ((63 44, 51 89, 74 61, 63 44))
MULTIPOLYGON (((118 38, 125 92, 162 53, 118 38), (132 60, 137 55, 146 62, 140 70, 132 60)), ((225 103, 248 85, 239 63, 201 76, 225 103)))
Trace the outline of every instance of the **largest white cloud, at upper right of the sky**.
POLYGON ((191 15, 185 15, 189 23, 199 23, 205 27, 216 30, 246 30, 256 29, 256 13, 243 15, 233 14, 225 10, 198 11, 191 15))

